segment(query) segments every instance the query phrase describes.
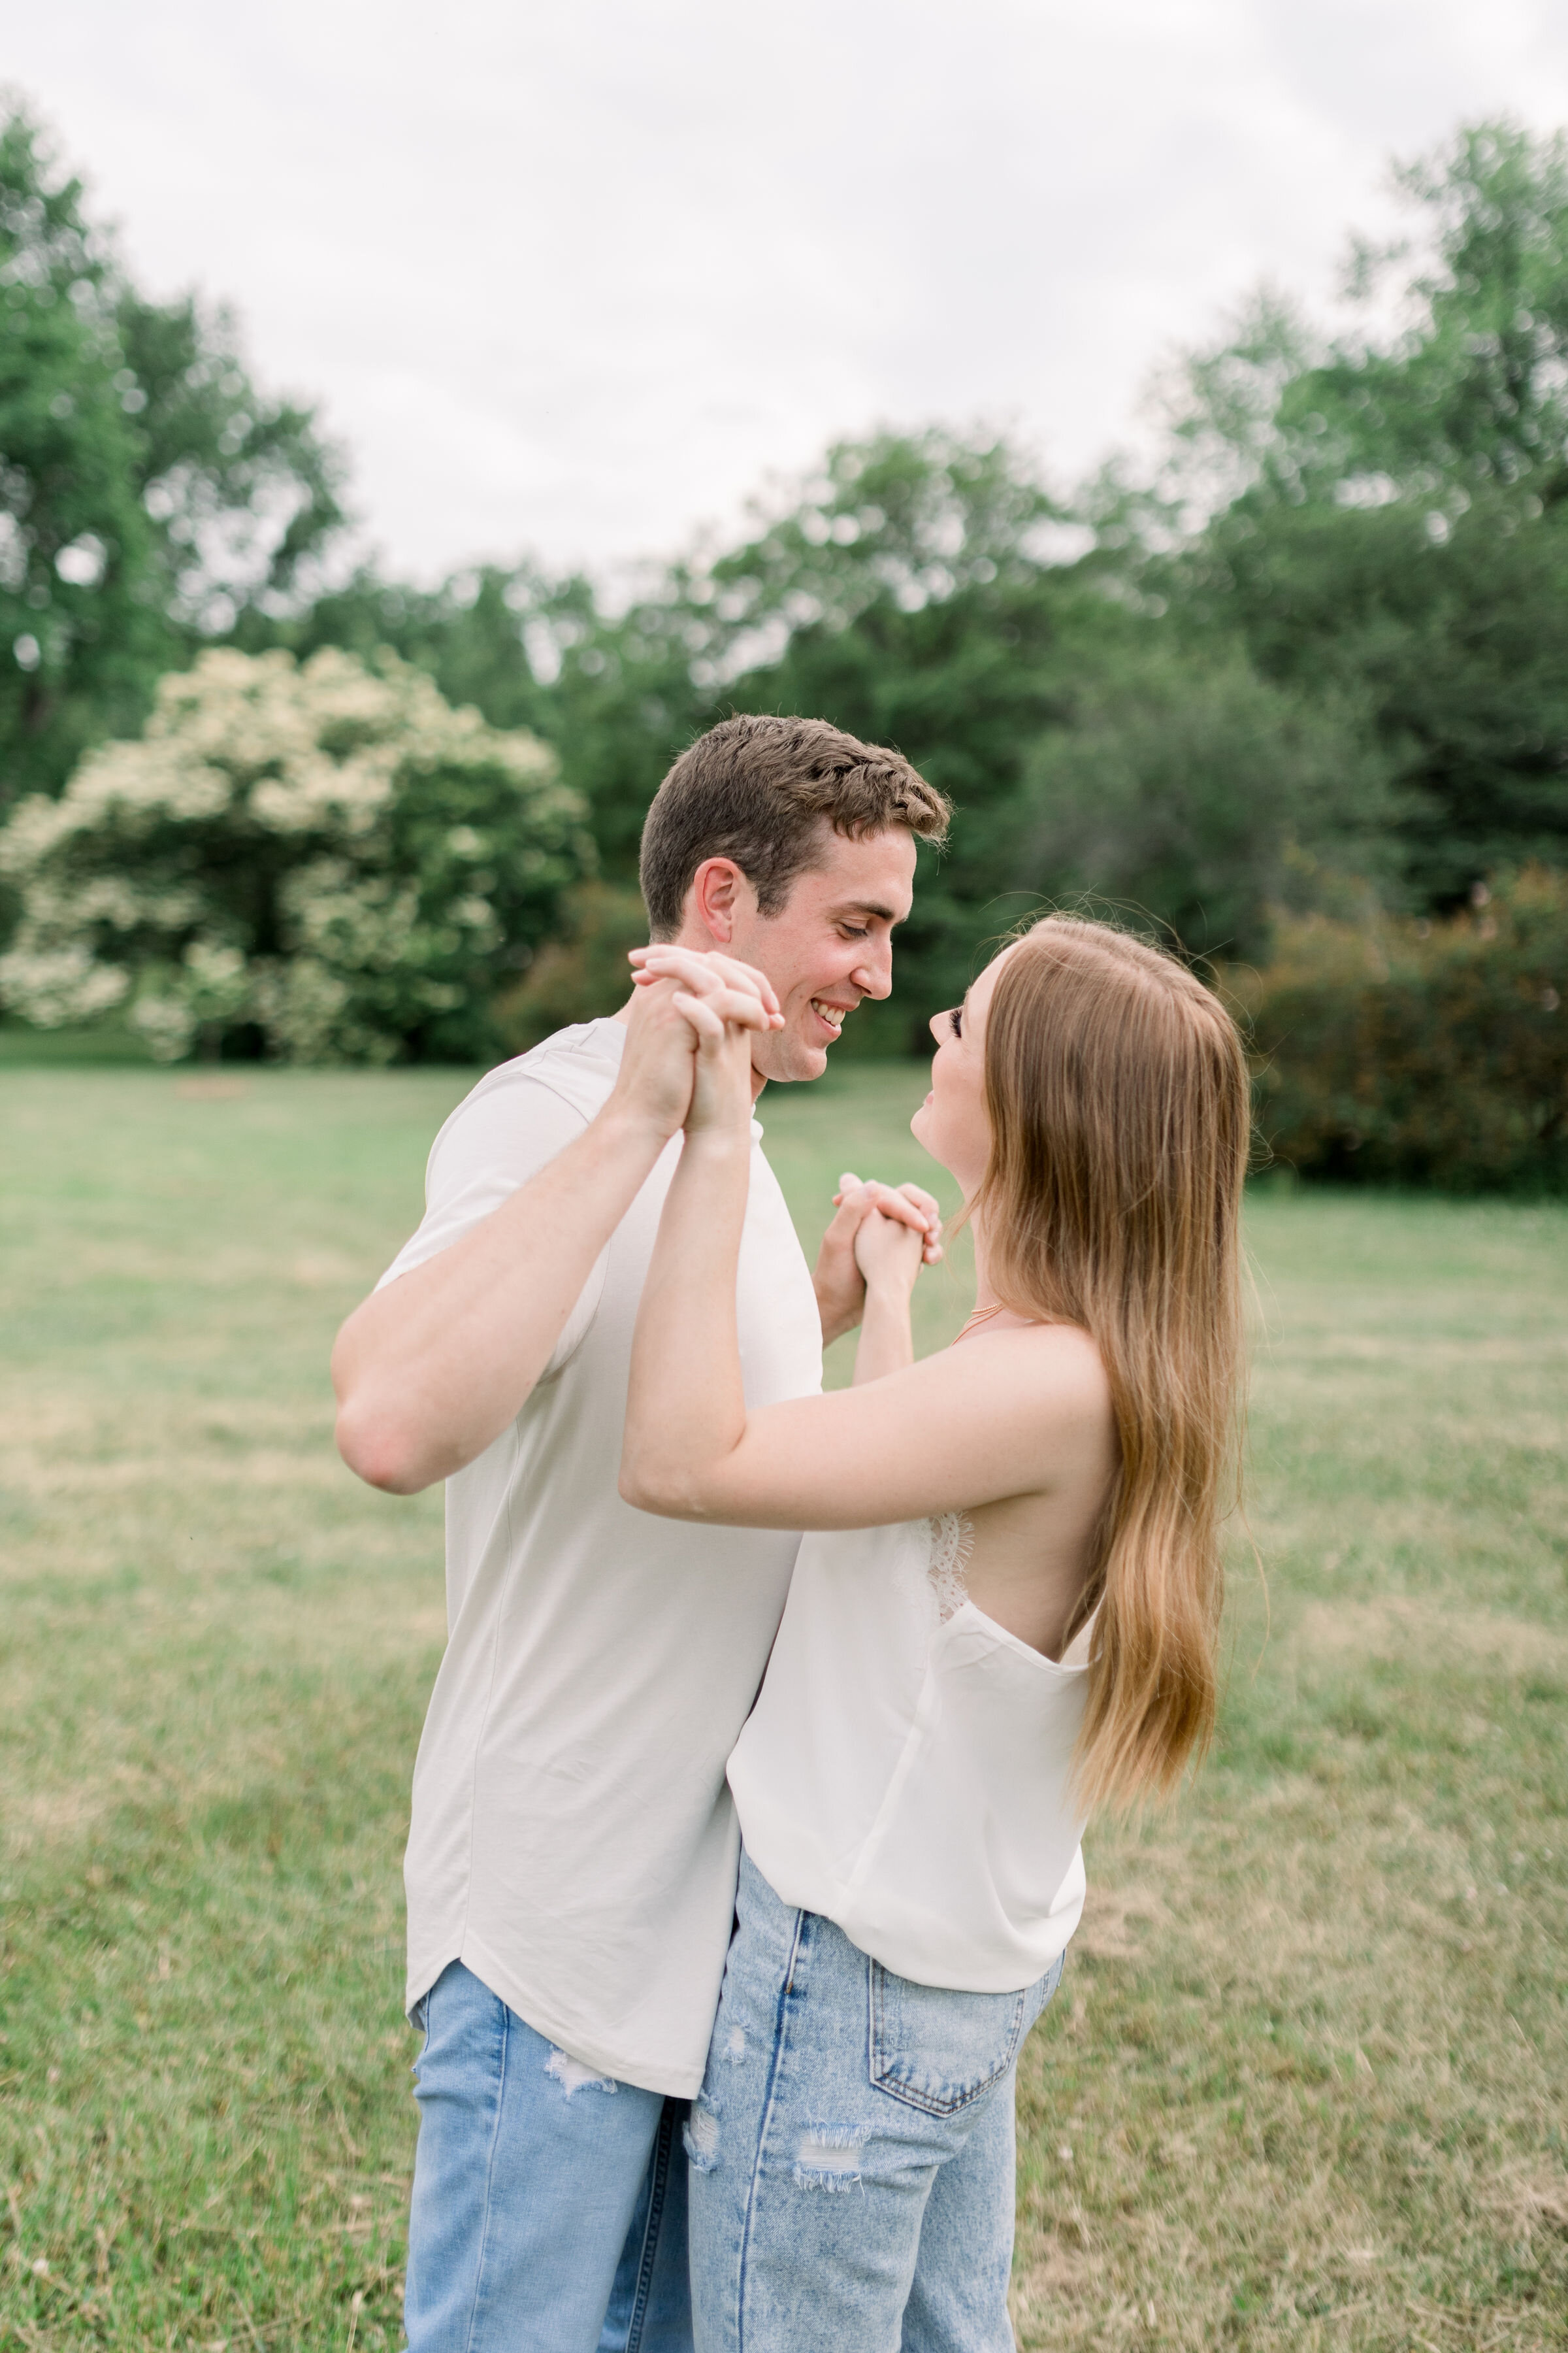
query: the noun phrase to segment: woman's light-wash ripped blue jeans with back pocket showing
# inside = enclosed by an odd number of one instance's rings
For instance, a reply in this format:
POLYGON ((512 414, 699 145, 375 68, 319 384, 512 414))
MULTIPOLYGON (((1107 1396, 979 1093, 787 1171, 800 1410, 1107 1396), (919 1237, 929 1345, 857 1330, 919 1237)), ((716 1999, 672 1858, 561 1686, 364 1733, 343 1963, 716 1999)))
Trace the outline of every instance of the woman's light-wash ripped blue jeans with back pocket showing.
POLYGON ((1023 1993, 893 1977, 741 1857, 686 2125, 698 2353, 1013 2353, 1023 1993))

